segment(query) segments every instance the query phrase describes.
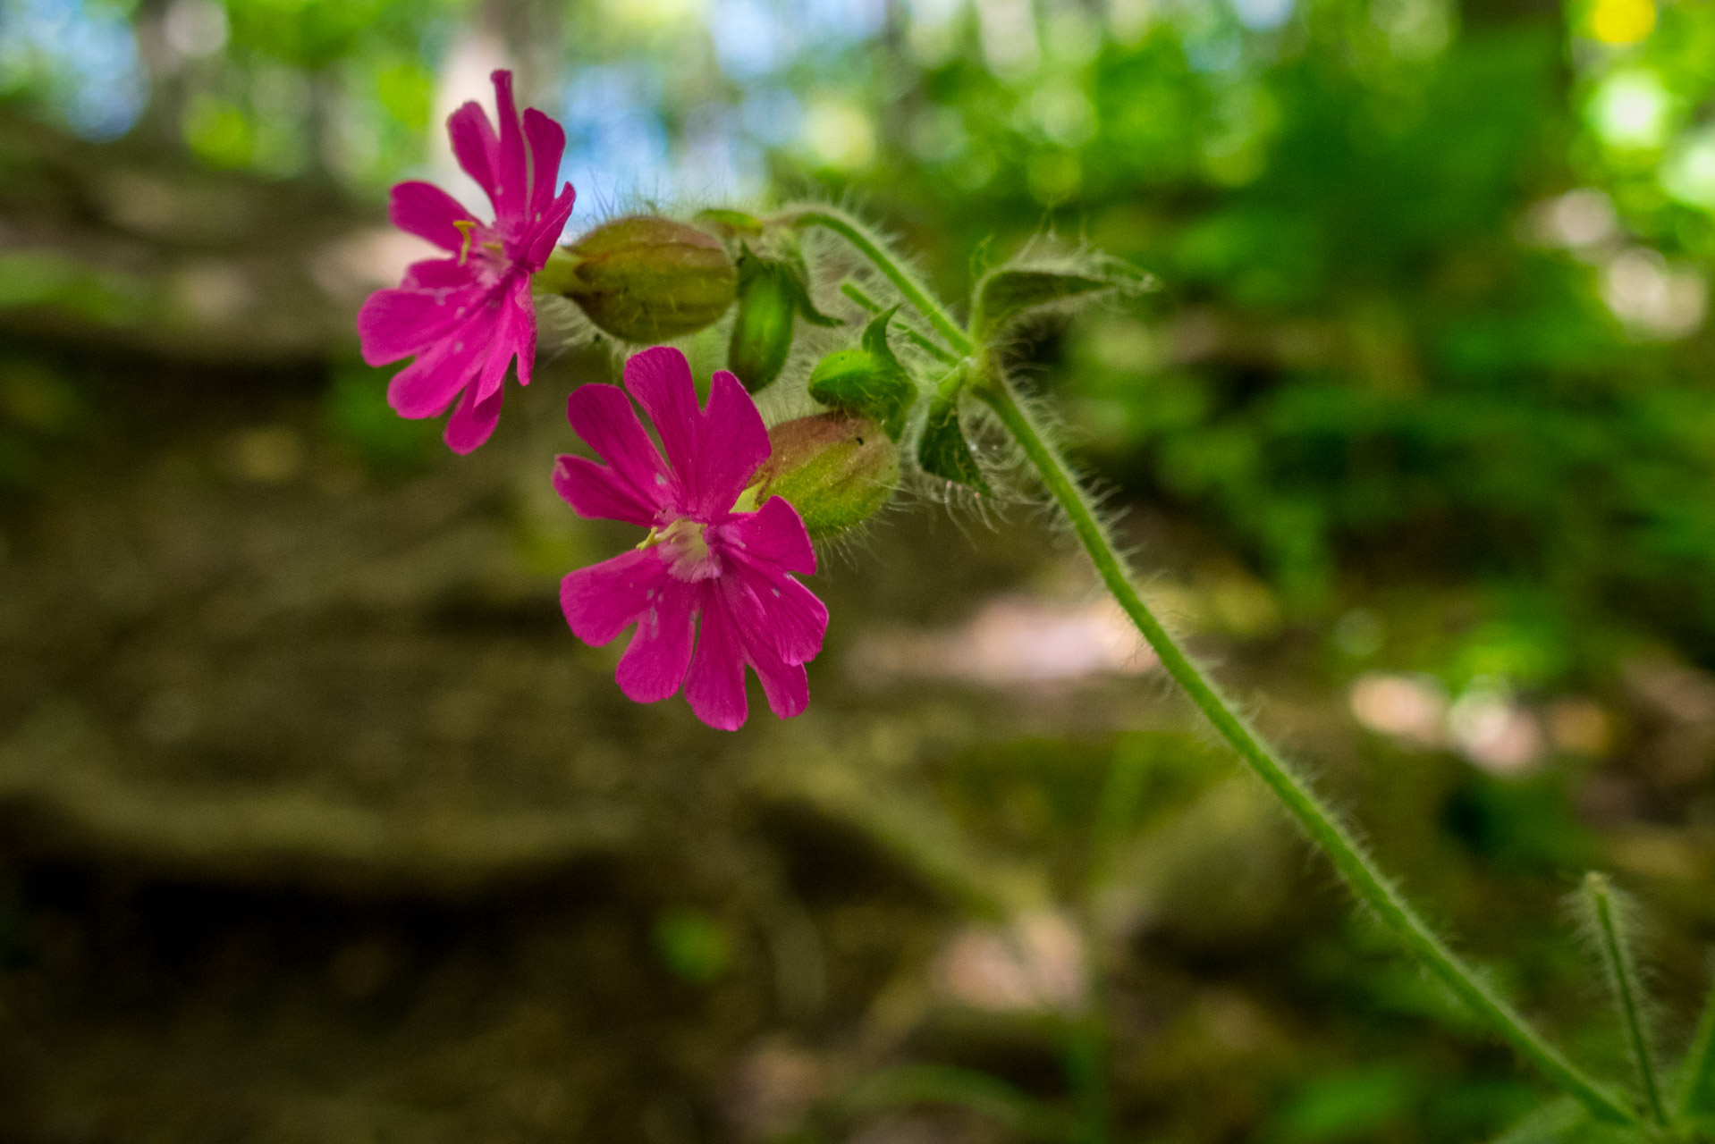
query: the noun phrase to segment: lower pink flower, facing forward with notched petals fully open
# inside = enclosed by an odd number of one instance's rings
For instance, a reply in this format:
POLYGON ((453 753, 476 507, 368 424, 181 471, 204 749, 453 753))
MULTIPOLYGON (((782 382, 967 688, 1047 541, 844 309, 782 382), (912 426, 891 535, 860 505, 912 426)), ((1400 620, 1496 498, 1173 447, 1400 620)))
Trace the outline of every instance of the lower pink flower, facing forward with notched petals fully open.
POLYGON ((607 465, 561 456, 554 487, 580 516, 650 533, 631 552, 566 576, 566 623, 593 645, 638 626, 617 672, 619 689, 638 703, 665 700, 683 683, 698 719, 736 731, 749 664, 773 713, 797 715, 809 703, 804 664, 821 650, 828 609, 792 578, 816 571, 797 509, 782 497, 756 511, 734 508, 768 460, 756 405, 720 370, 700 408, 689 364, 665 346, 626 362, 626 389, 655 422, 665 458, 619 386, 581 386, 566 417, 607 465))

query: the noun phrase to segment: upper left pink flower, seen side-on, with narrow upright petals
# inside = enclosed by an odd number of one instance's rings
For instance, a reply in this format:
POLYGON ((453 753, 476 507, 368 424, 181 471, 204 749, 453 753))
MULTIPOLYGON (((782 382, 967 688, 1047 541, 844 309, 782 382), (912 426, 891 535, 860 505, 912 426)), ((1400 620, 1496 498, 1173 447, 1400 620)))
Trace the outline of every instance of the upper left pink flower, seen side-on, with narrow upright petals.
POLYGON ((554 194, 566 132, 528 108, 520 125, 513 74, 494 72, 501 132, 466 103, 448 117, 460 166, 482 184, 494 223, 477 220, 439 187, 420 182, 393 189, 391 218, 449 252, 405 271, 396 290, 377 290, 357 314, 364 360, 386 365, 417 355, 393 377, 388 401, 401 417, 437 417, 463 400, 446 424, 446 443, 470 453, 501 418, 501 382, 518 358, 518 384, 530 384, 535 362, 535 309, 530 274, 542 269, 571 214, 571 184, 554 194))

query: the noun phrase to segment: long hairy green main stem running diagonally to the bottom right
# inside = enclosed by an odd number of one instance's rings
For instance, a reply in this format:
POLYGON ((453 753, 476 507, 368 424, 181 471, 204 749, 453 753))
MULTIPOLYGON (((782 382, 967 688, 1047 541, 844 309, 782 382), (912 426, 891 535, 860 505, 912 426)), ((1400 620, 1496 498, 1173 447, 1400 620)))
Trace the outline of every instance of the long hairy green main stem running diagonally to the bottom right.
POLYGON ((1243 722, 1228 708, 1221 696, 1209 686, 1202 674, 1180 650, 1178 643, 1166 633, 1161 621, 1144 605, 1137 588, 1132 587, 1125 566, 1115 552, 1101 523, 1096 520, 1087 499, 1079 489, 1065 463, 1055 449, 1036 431, 1031 417, 1019 406, 1007 382, 990 376, 976 382, 979 396, 1012 437, 1024 449, 1024 455, 1041 475, 1043 484, 1072 520, 1072 528, 1089 552, 1103 583, 1113 593, 1120 607, 1137 626, 1137 631, 1149 641, 1149 647, 1161 657, 1173 681, 1178 683, 1204 717, 1214 724, 1238 756, 1257 774, 1274 796, 1291 811, 1310 840, 1327 854, 1334 868, 1351 887, 1353 894, 1363 900, 1382 924, 1415 954, 1430 972, 1441 979, 1466 1005, 1482 1014, 1490 1026, 1526 1060, 1542 1070, 1564 1093, 1578 1098, 1600 1120, 1610 1123, 1636 1125, 1638 1115, 1610 1093, 1602 1089, 1593 1079, 1573 1065, 1557 1048, 1549 1045, 1540 1033, 1531 1029, 1513 1007, 1490 990, 1429 924, 1406 906, 1398 890, 1382 876, 1375 863, 1358 847, 1338 818, 1317 799, 1310 789, 1291 770, 1278 762, 1243 722))

